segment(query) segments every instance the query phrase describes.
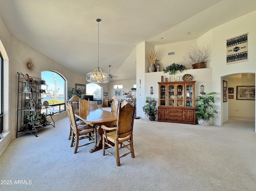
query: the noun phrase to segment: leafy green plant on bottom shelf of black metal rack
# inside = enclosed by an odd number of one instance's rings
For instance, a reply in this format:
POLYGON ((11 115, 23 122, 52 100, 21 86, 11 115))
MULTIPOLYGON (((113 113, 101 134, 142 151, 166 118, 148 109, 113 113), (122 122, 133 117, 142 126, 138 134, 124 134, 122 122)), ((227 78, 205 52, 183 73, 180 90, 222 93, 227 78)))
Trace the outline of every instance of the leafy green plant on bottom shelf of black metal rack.
POLYGON ((34 126, 43 125, 44 123, 49 122, 49 119, 47 118, 47 115, 45 113, 41 113, 40 111, 37 111, 36 113, 28 114, 26 116, 26 119, 23 125, 25 129, 32 129, 33 124, 32 124, 31 118, 33 120, 34 126))

